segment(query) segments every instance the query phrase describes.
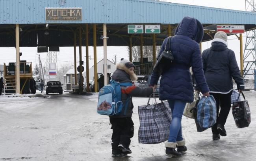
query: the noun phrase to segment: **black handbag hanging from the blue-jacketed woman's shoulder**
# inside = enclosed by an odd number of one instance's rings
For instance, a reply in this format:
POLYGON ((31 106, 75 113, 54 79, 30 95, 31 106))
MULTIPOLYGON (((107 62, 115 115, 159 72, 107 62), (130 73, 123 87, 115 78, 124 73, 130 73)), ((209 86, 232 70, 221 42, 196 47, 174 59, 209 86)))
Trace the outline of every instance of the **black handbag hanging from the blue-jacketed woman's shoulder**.
POLYGON ((159 75, 161 75, 165 69, 170 68, 171 62, 174 59, 173 53, 171 51, 171 38, 172 37, 168 37, 167 42, 165 44, 165 50, 162 51, 162 53, 158 57, 158 60, 156 61, 156 64, 154 65, 153 71, 155 73, 158 73, 159 75), (167 49, 167 47, 169 50, 167 49))

